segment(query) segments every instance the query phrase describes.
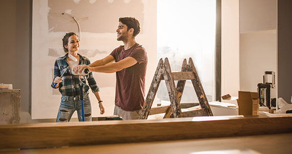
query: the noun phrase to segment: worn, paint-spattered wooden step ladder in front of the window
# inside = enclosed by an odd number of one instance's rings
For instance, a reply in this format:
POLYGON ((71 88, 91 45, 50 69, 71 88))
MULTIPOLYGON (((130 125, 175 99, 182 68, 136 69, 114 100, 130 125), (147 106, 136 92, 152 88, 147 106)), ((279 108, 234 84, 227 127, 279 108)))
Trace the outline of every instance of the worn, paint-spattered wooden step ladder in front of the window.
POLYGON ((171 105, 168 107, 155 107, 154 111, 156 114, 165 112, 163 118, 170 118, 172 112, 174 118, 213 116, 213 113, 211 111, 210 105, 208 104, 208 100, 206 98, 203 86, 200 82, 192 58, 189 59, 189 64, 186 63, 186 59, 183 60, 180 72, 172 72, 169 60, 166 57, 164 59, 164 62, 162 59, 160 59, 158 62, 158 66, 155 71, 139 119, 148 118, 151 106, 153 104, 161 80, 165 81, 171 105), (175 80, 178 80, 176 87, 174 83, 175 80), (180 100, 186 80, 192 81, 201 108, 197 110, 182 112, 180 107, 180 100))

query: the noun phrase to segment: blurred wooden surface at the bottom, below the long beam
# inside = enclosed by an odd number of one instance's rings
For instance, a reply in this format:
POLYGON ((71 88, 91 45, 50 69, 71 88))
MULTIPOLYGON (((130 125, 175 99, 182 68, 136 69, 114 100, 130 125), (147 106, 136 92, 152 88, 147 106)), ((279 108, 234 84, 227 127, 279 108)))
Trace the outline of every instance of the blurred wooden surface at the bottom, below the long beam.
POLYGON ((47 149, 22 149, 0 151, 0 153, 290 153, 292 133, 269 134, 261 136, 243 136, 226 138, 207 138, 159 142, 106 144, 90 146, 58 147, 47 149))

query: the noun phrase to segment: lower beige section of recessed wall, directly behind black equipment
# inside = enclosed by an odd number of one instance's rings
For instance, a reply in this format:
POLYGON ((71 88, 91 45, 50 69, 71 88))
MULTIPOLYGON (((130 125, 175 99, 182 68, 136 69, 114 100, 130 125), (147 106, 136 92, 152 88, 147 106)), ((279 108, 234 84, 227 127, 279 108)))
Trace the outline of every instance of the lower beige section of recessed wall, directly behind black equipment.
MULTIPOLYGON (((276 30, 240 34, 240 90, 257 92, 258 83, 263 83, 264 71, 276 72, 276 41, 276 30)), ((276 98, 274 88, 271 98, 276 98)))

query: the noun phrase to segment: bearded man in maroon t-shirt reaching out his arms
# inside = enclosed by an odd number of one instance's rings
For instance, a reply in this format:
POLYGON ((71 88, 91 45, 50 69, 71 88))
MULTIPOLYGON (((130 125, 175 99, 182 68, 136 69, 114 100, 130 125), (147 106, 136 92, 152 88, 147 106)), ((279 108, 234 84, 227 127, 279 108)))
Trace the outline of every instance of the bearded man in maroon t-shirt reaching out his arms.
POLYGON ((90 72, 116 72, 114 115, 124 120, 139 119, 144 103, 148 63, 146 50, 135 40, 140 32, 140 23, 134 17, 120 17, 116 32, 117 41, 122 41, 123 46, 114 49, 107 57, 88 66, 75 67, 73 71, 80 73, 88 68, 90 72))

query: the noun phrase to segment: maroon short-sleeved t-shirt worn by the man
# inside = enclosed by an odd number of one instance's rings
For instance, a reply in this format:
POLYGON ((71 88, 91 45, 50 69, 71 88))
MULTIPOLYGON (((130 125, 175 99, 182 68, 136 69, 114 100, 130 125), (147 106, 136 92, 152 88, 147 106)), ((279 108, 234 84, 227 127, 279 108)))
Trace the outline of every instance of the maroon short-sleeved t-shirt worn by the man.
POLYGON ((115 105, 125 111, 135 111, 143 107, 145 96, 145 75, 148 63, 146 50, 136 43, 128 50, 119 46, 110 54, 115 62, 128 56, 133 57, 138 63, 116 72, 116 97, 115 105))

